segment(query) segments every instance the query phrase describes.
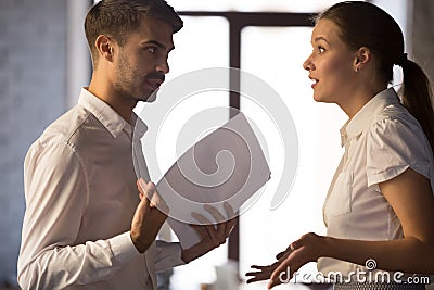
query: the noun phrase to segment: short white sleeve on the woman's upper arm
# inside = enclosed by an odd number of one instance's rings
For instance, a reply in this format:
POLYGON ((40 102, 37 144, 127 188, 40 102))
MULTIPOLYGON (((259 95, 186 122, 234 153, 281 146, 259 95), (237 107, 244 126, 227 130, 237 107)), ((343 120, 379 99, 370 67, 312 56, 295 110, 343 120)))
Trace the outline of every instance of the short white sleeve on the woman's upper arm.
POLYGON ((417 123, 385 118, 371 125, 367 138, 368 186, 393 179, 408 168, 430 178, 431 148, 417 123))

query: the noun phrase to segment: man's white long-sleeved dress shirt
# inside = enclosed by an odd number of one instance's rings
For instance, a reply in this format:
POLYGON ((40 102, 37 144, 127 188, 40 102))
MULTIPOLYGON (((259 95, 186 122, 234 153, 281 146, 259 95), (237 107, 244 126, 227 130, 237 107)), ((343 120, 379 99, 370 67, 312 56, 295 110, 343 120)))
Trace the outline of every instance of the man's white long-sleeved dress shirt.
POLYGON ((131 126, 82 89, 25 159, 23 289, 156 289, 155 272, 183 262, 178 243, 140 254, 129 229, 139 203, 131 126))

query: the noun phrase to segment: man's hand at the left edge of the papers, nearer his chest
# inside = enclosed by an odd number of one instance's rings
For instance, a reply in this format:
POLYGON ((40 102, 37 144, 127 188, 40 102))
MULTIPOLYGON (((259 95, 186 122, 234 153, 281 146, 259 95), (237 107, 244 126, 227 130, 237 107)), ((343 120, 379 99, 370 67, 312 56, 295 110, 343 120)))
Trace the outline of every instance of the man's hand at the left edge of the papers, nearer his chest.
POLYGON ((143 179, 139 179, 137 180, 137 188, 139 189, 141 201, 132 217, 130 235, 136 249, 140 253, 144 253, 155 240, 167 215, 162 213, 155 205, 162 201, 153 182, 145 182, 143 179))

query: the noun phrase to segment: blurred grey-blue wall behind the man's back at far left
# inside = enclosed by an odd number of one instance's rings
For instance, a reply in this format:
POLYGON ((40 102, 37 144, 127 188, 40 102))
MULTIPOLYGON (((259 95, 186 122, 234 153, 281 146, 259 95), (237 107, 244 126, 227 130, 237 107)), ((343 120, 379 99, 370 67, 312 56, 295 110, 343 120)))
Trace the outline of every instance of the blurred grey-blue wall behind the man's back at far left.
POLYGON ((0 285, 15 281, 29 144, 65 111, 66 1, 0 0, 0 285))

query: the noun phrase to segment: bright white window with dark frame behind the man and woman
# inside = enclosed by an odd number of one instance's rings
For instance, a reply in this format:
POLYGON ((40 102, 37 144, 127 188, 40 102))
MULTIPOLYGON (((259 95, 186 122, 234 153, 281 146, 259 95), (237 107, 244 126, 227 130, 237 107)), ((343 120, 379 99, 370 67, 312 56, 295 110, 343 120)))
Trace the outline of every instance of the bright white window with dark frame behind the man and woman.
MULTIPOLYGON (((233 58, 233 53, 240 53, 238 65, 241 70, 267 81, 280 94, 298 133, 298 169, 286 200, 277 210, 270 211, 270 201, 278 182, 278 178, 272 178, 259 201, 240 217, 239 269, 243 276, 252 264, 272 262, 279 251, 303 234, 308 231, 324 234, 322 203, 343 153, 340 149, 339 129, 346 121, 346 116, 336 106, 315 103, 311 99, 310 81, 302 67, 303 61, 311 51, 311 27, 307 24, 271 27, 272 25, 269 26, 266 22, 276 22, 276 18, 263 17, 261 25, 238 27, 240 46, 237 43, 234 46, 231 42, 233 35, 230 34, 233 27, 222 12, 240 13, 237 15, 243 17, 248 17, 252 12, 316 13, 339 1, 168 0, 167 2, 183 15, 184 21, 184 28, 174 36, 176 50, 169 56, 170 73, 167 75, 167 81, 199 68, 233 65, 232 62, 237 59, 233 58)), ((393 3, 386 0, 372 2, 393 14, 406 35, 405 0, 393 3)), ((399 76, 396 83, 399 83, 399 76)), ((164 100, 158 99, 156 102, 164 100)), ((204 94, 197 94, 190 98, 188 103, 176 108, 163 127, 164 134, 157 144, 157 156, 163 167, 167 168, 176 159, 176 137, 183 122, 204 108, 228 106, 229 102, 229 94, 226 98, 221 94, 219 98, 204 98, 204 94)), ((248 99, 241 97, 239 105, 247 116, 257 119, 256 125, 265 139, 269 140, 272 176, 279 177, 283 166, 282 151, 279 138, 273 135, 273 131, 276 133, 273 124, 266 115, 261 115, 261 109, 248 99)), ((227 245, 220 247, 205 259, 175 269, 171 289, 199 289, 200 283, 214 282, 216 278, 214 267, 227 263, 227 245)), ((315 267, 314 264, 307 265, 304 270, 314 272, 315 267)), ((241 288, 255 289, 255 286, 241 288)))

